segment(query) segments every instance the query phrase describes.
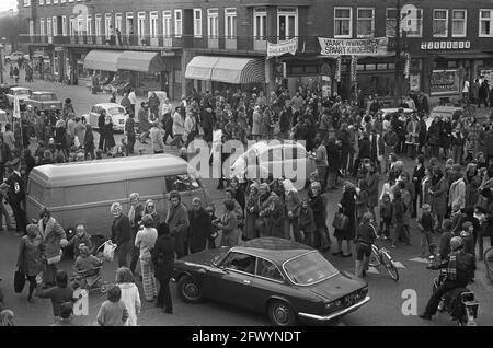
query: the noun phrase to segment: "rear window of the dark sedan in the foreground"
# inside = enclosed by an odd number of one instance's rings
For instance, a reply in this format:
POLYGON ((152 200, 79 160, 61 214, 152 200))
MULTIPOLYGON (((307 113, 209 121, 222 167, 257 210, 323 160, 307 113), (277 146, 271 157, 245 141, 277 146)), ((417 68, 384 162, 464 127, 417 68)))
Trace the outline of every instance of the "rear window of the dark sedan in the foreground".
POLYGON ((339 274, 339 270, 318 252, 296 257, 285 263, 283 268, 289 279, 299 286, 310 286, 339 274))

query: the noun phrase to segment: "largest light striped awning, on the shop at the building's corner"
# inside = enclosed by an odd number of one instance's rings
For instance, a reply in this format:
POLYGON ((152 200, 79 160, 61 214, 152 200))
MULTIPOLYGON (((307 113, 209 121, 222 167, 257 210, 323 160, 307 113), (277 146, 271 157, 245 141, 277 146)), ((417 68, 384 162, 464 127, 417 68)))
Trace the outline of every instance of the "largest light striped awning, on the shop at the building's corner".
POLYGON ((265 83, 265 65, 253 58, 197 56, 186 67, 185 78, 232 84, 265 83))

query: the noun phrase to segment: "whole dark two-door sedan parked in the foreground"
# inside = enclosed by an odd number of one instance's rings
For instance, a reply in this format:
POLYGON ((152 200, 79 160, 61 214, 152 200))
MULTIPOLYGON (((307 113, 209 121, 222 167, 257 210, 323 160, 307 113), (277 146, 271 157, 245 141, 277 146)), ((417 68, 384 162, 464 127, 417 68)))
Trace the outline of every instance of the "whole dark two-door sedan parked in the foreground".
POLYGON ((174 279, 186 302, 205 299, 266 313, 274 325, 328 322, 370 301, 368 285, 341 272, 317 250, 264 237, 179 259, 174 279))

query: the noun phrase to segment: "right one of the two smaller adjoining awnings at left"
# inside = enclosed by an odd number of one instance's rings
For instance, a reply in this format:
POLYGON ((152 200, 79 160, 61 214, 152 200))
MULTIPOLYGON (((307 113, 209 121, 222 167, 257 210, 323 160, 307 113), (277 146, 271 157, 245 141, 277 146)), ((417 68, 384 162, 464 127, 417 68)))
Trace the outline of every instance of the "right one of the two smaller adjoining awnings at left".
POLYGON ((124 50, 116 65, 121 70, 161 72, 164 70, 161 56, 154 51, 124 50))

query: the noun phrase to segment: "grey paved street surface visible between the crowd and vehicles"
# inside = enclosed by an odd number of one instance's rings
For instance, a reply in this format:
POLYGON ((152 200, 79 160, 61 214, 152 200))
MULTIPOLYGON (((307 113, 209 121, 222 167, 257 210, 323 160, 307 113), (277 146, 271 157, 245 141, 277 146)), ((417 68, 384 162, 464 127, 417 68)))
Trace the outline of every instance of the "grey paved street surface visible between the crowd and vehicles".
MULTIPOLYGON (((78 86, 66 86, 60 84, 45 83, 35 81, 28 84, 33 90, 50 90, 58 94, 60 100, 71 97, 78 115, 87 112, 89 107, 99 102, 105 102, 108 95, 91 95, 88 89, 78 86), (84 92, 85 91, 85 92, 84 92)), ((98 136, 96 136, 98 137, 98 136)), ((117 140, 118 142, 118 140, 117 140)), ((173 153, 175 150, 170 150, 173 153)), ((412 163, 406 163, 406 169, 411 169, 412 163)), ((215 201, 222 199, 223 192, 216 189, 216 182, 206 181, 215 201)), ((341 199, 341 188, 328 194, 328 225, 331 225, 336 204, 341 199)), ((216 206, 220 207, 219 204, 216 206)), ((108 216, 108 219, 112 219, 108 216)), ((419 233, 415 229, 415 222, 412 221, 412 246, 391 250, 392 256, 399 266, 401 278, 394 282, 383 269, 371 269, 367 281, 369 283, 369 294, 371 301, 357 312, 345 316, 339 325, 368 325, 368 326, 415 326, 415 325, 455 325, 449 316, 443 314, 434 317, 433 322, 424 322, 417 316, 404 316, 401 313, 401 305, 404 299, 402 292, 406 289, 413 289, 417 293, 417 313, 422 312, 431 294, 432 279, 436 271, 426 270, 426 260, 416 259, 420 254, 419 233)), ((331 234, 333 228, 330 228, 331 234)), ((90 231, 89 231, 90 232, 90 231)), ((485 241, 486 244, 489 241, 485 241)), ((333 244, 335 241, 333 240, 333 244)), ((12 232, 0 232, 0 276, 3 281, 0 282, 5 294, 5 305, 15 312, 15 322, 18 325, 47 325, 53 322, 51 305, 48 300, 37 299, 35 304, 28 304, 26 301, 26 290, 22 295, 13 292, 13 272, 15 270, 15 260, 18 255, 19 237, 12 232)), ((390 245, 388 245, 390 246, 390 245)), ((340 270, 354 271, 354 260, 352 258, 341 258, 325 254, 328 259, 340 270)), ((62 268, 70 270, 71 263, 64 262, 62 268)), ((115 265, 105 264, 104 279, 113 281, 115 275, 115 265)), ((474 291, 480 302, 479 325, 493 324, 493 288, 484 278, 484 266, 479 265, 475 282, 470 287, 474 291)), ((140 287, 140 283, 139 283, 140 287)), ((144 295, 142 313, 139 316, 140 325, 197 325, 197 326, 253 326, 268 325, 268 321, 263 315, 252 314, 234 308, 206 302, 199 305, 191 305, 182 302, 174 291, 173 285, 174 314, 162 314, 153 308, 152 303, 146 303, 144 295)), ((101 302, 104 299, 98 293, 90 298, 89 317, 78 317, 77 322, 83 325, 94 325, 95 315, 101 302)))

